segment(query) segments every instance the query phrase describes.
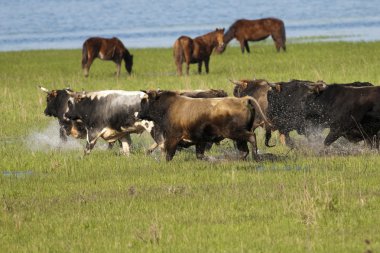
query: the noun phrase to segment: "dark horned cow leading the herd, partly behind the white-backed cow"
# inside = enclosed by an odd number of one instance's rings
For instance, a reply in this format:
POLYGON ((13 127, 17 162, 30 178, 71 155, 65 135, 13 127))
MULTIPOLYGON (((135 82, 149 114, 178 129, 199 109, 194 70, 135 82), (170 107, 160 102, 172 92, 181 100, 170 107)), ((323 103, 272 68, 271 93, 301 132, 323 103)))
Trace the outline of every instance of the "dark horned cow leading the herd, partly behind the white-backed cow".
POLYGON ((45 115, 55 117, 59 123, 59 136, 62 141, 67 141, 67 136, 71 135, 74 138, 84 138, 86 130, 81 122, 65 119, 63 117, 67 110, 67 101, 69 94, 67 91, 73 92, 71 89, 66 88, 62 90, 51 90, 39 86, 43 92, 46 92, 46 108, 45 115))

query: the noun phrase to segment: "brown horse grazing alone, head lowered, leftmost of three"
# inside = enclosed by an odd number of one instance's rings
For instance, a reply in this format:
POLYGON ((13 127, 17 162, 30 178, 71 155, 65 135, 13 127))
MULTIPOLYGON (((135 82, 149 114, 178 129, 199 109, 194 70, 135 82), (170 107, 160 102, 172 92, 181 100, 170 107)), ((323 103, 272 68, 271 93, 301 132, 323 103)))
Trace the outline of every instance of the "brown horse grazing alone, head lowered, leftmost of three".
POLYGON ((83 43, 82 49, 82 69, 84 76, 88 76, 90 67, 95 58, 101 60, 112 60, 116 63, 116 75, 120 75, 121 61, 125 62, 125 69, 128 74, 132 72, 133 55, 125 48, 118 38, 91 37, 83 43))

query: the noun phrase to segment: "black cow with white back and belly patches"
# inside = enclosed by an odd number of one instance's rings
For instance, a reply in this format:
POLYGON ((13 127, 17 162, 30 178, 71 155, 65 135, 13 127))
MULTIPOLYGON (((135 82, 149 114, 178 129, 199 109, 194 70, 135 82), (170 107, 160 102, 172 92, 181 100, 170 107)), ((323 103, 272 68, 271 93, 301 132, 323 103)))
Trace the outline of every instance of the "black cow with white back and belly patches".
POLYGON ((119 140, 123 153, 129 155, 131 133, 150 131, 152 122, 139 121, 135 113, 140 110, 145 93, 140 91, 103 90, 94 92, 68 92, 68 109, 64 117, 80 120, 86 129, 85 154, 89 154, 99 138, 107 142, 119 140))

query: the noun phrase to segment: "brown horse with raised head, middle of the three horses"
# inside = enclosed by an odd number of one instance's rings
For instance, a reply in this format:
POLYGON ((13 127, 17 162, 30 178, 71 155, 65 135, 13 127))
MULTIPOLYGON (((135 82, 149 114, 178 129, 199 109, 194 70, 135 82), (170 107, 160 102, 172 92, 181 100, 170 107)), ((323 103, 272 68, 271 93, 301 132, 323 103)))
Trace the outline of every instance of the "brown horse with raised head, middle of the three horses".
POLYGON ((189 75, 190 64, 198 63, 198 73, 202 72, 202 62, 205 63, 206 73, 209 72, 210 55, 214 48, 220 51, 224 47, 223 29, 192 39, 187 36, 179 37, 173 46, 174 62, 177 65, 177 74, 182 75, 182 63, 186 62, 186 74, 189 75))

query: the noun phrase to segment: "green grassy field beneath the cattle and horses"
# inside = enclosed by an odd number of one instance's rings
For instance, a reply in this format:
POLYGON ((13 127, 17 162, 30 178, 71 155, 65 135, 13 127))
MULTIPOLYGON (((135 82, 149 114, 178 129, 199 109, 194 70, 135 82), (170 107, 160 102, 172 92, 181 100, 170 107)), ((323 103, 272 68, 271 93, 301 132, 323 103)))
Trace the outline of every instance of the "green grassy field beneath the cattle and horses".
POLYGON ((46 145, 58 128, 43 115, 38 84, 229 94, 228 79, 254 77, 380 84, 380 42, 251 49, 229 47, 212 56, 209 75, 192 65, 189 77, 175 75, 171 49, 131 49, 133 75, 118 79, 114 64, 99 60, 84 78, 79 49, 0 52, 0 252, 379 252, 380 159, 367 149, 343 155, 344 144, 320 155, 294 134, 299 149, 269 149, 260 131, 260 151, 280 160, 230 159, 226 140, 211 150, 225 159, 197 161, 189 149, 167 163, 144 155, 145 134, 133 137, 128 158, 99 147, 83 157, 83 141, 46 145))

